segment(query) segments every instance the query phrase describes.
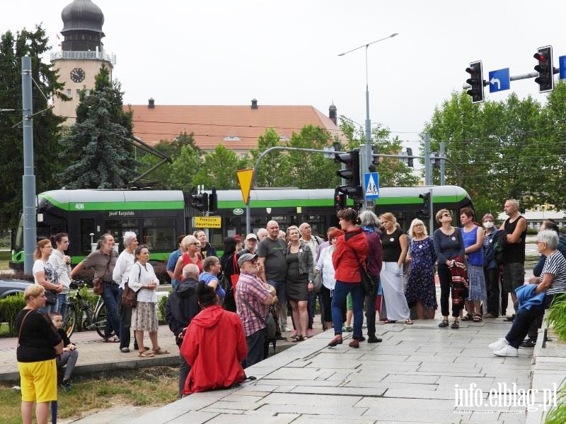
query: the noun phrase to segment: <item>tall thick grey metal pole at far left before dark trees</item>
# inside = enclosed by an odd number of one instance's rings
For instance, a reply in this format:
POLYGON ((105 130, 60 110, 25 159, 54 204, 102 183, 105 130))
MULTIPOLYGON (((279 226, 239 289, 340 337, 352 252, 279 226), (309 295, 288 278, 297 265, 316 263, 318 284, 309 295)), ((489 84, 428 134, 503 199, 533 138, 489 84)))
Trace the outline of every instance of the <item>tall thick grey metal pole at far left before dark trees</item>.
POLYGON ((23 272, 31 274, 37 238, 35 223, 35 175, 33 174, 33 104, 31 93, 31 58, 22 57, 22 122, 23 122, 23 272))

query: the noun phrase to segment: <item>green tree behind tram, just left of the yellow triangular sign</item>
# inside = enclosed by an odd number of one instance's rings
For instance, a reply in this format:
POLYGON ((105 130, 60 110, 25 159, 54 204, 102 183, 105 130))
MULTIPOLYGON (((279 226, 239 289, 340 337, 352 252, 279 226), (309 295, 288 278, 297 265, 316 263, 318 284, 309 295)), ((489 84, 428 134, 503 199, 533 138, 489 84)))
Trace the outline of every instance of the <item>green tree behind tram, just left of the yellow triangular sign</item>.
POLYGON ((238 158, 234 151, 229 151, 219 144, 214 151, 204 155, 200 170, 193 179, 193 185, 204 184, 204 187, 216 186, 219 190, 238 189, 236 171, 248 167, 248 160, 238 158))

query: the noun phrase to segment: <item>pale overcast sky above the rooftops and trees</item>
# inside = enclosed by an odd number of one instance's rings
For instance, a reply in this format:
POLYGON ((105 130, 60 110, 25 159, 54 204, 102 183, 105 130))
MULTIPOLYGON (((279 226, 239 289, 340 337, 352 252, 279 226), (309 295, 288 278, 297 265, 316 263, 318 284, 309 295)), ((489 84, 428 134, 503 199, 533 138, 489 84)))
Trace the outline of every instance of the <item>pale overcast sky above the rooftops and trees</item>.
MULTIPOLYGON (((461 90, 470 61, 487 71, 529 73, 533 53, 566 54, 566 1, 442 0, 95 0, 103 42, 117 56, 114 78, 125 103, 156 105, 313 105, 360 124, 365 119, 364 49, 370 117, 401 139, 418 140, 434 107, 461 90), (538 7, 552 6, 548 20, 538 7), (539 28, 536 28, 538 25, 539 28)), ((2 0, 0 30, 43 23, 54 49, 70 0, 2 0)), ((519 96, 538 94, 533 79, 512 81, 519 96)), ((487 98, 503 100, 510 91, 487 98)))

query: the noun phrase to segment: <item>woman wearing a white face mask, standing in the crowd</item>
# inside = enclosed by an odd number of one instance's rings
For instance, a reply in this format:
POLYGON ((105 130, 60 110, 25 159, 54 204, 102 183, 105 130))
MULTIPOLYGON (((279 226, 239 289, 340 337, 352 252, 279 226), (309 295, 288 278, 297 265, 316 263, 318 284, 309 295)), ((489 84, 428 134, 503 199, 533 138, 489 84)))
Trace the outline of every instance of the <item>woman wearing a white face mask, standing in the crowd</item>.
POLYGON ((487 314, 485 318, 499 317, 499 266, 492 257, 493 236, 497 232, 494 225, 494 218, 491 213, 483 216, 483 228, 485 238, 483 239, 483 257, 485 258, 483 273, 485 275, 485 286, 487 288, 487 314))

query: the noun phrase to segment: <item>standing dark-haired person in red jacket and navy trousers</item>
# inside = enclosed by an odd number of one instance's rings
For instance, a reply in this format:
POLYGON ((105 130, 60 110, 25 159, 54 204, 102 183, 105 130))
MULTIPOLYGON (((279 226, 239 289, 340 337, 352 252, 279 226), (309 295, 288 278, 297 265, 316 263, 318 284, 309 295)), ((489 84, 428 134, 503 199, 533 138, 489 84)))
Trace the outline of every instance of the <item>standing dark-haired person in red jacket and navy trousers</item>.
POLYGON ((359 348, 359 340, 362 338, 362 323, 364 322, 364 288, 362 276, 359 273, 359 265, 362 264, 365 268, 369 247, 364 230, 356 225, 360 223, 360 220, 354 209, 342 209, 337 213, 337 217, 345 235, 338 237, 336 250, 332 257, 336 270, 336 283, 332 298, 332 321, 335 338, 328 343, 328 346, 342 344, 342 304, 346 301, 347 294, 352 293, 354 334, 349 346, 359 348))

